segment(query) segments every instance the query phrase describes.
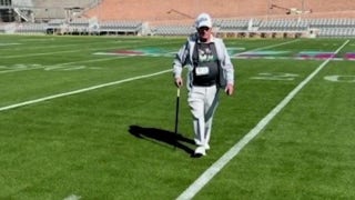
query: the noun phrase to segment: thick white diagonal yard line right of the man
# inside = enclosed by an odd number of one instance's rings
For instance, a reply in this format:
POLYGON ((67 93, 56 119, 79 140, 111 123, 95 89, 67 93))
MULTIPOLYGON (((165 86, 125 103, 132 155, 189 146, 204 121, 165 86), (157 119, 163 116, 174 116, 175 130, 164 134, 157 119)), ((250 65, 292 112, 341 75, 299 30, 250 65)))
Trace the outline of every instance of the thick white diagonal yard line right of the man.
MULTIPOLYGON (((338 53, 349 40, 345 41, 336 51, 338 53)), ((268 114, 266 114, 247 134, 245 134, 237 143, 226 151, 217 161, 215 161, 207 170, 205 170, 185 191, 176 199, 192 199, 210 180, 219 173, 239 152, 253 140, 270 121, 306 86, 329 61, 325 60, 316 70, 314 70, 305 80, 303 80, 295 89, 293 89, 268 114)))

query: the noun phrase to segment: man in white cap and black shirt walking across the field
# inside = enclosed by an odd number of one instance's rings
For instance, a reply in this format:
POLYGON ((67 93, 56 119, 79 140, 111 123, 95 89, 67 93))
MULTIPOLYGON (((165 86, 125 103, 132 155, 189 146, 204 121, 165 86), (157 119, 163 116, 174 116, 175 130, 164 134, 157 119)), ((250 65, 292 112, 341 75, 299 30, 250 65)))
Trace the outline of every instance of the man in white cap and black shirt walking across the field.
POLYGON ((195 21, 196 33, 191 34, 173 61, 176 87, 183 86, 182 68, 187 67, 189 106, 193 117, 194 154, 210 150, 213 114, 219 104, 219 91, 229 96, 234 91, 234 67, 222 39, 212 34, 212 19, 201 13, 195 21))

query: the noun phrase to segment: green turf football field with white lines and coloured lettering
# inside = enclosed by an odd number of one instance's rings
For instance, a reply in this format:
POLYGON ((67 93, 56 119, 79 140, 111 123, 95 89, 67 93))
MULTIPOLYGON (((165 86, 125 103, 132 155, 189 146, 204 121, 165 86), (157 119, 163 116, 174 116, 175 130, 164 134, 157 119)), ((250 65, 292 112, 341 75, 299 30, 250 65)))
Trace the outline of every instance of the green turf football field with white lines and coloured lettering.
POLYGON ((174 142, 184 41, 0 36, 0 199, 355 199, 354 39, 225 40, 199 159, 185 88, 174 142))

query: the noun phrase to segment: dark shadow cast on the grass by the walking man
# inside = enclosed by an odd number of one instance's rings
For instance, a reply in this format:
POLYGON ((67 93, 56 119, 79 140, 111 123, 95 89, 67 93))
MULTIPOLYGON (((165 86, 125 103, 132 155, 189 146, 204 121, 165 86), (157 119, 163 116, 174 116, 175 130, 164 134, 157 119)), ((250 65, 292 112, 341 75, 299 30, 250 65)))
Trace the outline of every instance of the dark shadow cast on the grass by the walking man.
POLYGON ((153 139, 154 141, 160 141, 168 143, 172 147, 176 147, 178 149, 182 149, 185 152, 193 154, 193 149, 182 143, 194 144, 194 141, 183 137, 182 134, 175 134, 174 132, 156 129, 156 128, 144 128, 140 126, 130 126, 130 133, 140 139, 153 139))

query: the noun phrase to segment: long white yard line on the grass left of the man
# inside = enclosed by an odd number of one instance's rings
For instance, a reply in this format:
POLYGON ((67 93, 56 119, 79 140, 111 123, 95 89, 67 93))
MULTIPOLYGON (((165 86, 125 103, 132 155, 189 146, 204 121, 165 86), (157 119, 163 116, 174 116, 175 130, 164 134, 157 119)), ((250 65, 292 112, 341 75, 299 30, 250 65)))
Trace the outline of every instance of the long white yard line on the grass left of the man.
POLYGON ((53 96, 49 96, 49 97, 44 97, 44 98, 40 98, 40 99, 34 99, 34 100, 24 101, 24 102, 20 102, 20 103, 16 103, 16 104, 10 104, 10 106, 7 106, 7 107, 0 107, 0 112, 1 111, 6 111, 6 110, 16 109, 16 108, 19 108, 19 107, 24 107, 24 106, 29 106, 29 104, 34 104, 34 103, 39 103, 39 102, 57 99, 57 98, 62 98, 62 97, 67 97, 67 96, 73 96, 73 94, 78 94, 78 93, 83 93, 83 92, 87 92, 87 91, 97 90, 97 89, 101 89, 101 88, 105 88, 105 87, 110 87, 110 86, 114 86, 114 84, 121 84, 121 83, 124 83, 124 82, 130 82, 130 81, 134 81, 134 80, 139 80, 139 79, 145 79, 145 78, 159 76, 159 74, 166 73, 166 72, 171 72, 171 69, 170 70, 159 71, 159 72, 155 72, 155 73, 145 74, 145 76, 138 76, 138 77, 132 77, 132 78, 128 78, 128 79, 123 79, 123 80, 119 80, 119 81, 98 84, 98 86, 93 86, 93 87, 89 87, 89 88, 83 88, 83 89, 80 89, 80 90, 69 91, 69 92, 64 92, 64 93, 58 93, 58 94, 53 94, 53 96))

